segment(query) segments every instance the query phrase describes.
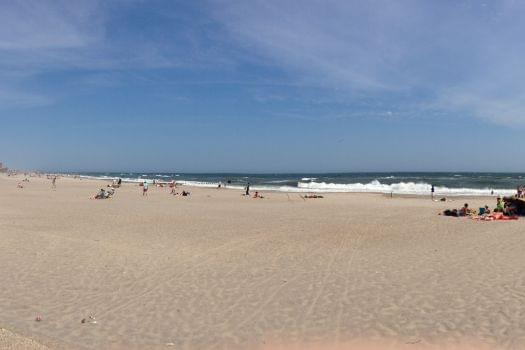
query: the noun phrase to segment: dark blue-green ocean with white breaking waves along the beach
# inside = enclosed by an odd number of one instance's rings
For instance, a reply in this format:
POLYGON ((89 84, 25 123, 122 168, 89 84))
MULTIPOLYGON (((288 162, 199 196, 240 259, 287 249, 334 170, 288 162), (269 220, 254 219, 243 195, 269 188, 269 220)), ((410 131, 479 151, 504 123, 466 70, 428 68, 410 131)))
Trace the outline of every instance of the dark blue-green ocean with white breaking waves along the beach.
POLYGON ((253 190, 281 192, 372 192, 436 196, 511 195, 525 185, 525 173, 331 173, 331 174, 188 174, 188 173, 67 173, 93 179, 122 178, 124 182, 176 181, 198 187, 226 187, 242 190, 247 183, 253 190))

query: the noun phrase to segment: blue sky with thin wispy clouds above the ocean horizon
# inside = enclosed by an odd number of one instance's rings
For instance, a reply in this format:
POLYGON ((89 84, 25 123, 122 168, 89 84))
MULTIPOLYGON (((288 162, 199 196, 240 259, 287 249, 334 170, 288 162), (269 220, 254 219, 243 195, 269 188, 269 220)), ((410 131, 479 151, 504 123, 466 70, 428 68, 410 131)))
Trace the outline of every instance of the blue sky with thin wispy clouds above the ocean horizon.
POLYGON ((0 161, 525 172, 523 1, 3 1, 0 161))

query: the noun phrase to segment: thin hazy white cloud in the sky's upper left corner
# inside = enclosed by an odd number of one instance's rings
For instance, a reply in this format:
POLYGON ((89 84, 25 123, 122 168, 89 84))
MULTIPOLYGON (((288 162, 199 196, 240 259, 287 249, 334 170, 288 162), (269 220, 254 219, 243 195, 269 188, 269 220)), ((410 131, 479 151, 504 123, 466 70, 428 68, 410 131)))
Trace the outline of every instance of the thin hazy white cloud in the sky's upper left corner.
POLYGON ((0 99, 4 107, 36 106, 56 100, 52 92, 35 88, 34 81, 43 74, 82 72, 77 84, 115 86, 125 70, 178 67, 179 57, 164 51, 165 45, 159 40, 132 34, 122 40, 112 37, 110 26, 114 25, 115 14, 136 3, 2 2, 0 99))

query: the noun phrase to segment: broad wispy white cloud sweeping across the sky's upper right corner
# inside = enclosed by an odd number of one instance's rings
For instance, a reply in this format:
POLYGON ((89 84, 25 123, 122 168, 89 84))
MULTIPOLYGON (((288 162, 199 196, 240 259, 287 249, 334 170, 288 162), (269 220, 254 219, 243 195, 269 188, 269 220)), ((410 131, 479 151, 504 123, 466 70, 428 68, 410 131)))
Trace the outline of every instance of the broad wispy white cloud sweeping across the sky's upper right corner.
POLYGON ((220 1, 212 11, 245 50, 349 101, 388 111, 402 96, 422 115, 525 125, 523 2, 220 1))

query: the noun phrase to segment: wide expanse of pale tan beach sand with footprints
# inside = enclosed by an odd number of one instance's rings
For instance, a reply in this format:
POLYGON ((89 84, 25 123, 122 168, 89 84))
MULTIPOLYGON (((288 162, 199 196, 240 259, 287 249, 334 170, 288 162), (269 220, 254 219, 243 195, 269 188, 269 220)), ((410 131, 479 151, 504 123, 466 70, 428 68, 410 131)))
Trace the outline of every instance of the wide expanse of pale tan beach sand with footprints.
POLYGON ((20 179, 0 176, 2 347, 525 349, 523 219, 376 194, 90 200, 102 182, 20 179))

